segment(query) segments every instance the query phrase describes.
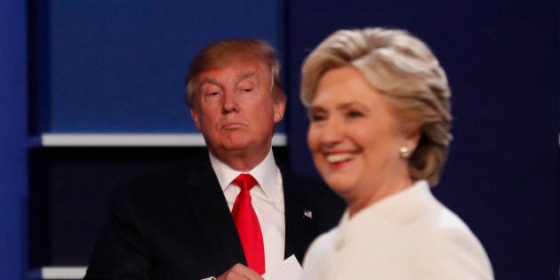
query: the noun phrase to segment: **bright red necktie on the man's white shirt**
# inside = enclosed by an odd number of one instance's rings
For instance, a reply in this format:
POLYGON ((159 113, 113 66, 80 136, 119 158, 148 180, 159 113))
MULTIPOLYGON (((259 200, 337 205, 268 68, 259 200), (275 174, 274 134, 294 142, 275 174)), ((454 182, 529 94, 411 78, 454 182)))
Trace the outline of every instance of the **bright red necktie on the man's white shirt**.
POLYGON ((265 272, 264 244, 259 219, 252 209, 251 193, 249 193, 249 190, 257 185, 257 180, 251 174, 241 174, 233 180, 233 184, 241 188, 231 214, 241 238, 247 266, 262 275, 265 272))

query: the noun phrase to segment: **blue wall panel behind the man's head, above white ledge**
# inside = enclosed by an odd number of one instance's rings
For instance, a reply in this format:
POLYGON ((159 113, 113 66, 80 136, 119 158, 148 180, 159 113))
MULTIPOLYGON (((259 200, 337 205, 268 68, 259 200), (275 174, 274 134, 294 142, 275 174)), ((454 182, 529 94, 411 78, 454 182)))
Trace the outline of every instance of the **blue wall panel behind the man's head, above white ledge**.
POLYGON ((49 9, 48 132, 195 132, 183 92, 198 49, 235 36, 284 49, 279 0, 57 0, 49 9))

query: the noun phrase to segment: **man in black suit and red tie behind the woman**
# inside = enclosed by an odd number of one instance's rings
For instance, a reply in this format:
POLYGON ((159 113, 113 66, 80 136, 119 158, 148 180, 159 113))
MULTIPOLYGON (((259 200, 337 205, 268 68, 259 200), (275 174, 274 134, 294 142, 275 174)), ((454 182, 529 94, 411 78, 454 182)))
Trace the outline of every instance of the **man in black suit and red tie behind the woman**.
POLYGON ((272 136, 286 98, 268 43, 209 44, 189 71, 188 107, 208 153, 116 189, 84 279, 262 279, 247 267, 244 230, 232 218, 240 174, 255 180, 249 207, 263 271, 292 254, 301 262, 340 219, 344 206, 323 183, 276 165, 272 136))

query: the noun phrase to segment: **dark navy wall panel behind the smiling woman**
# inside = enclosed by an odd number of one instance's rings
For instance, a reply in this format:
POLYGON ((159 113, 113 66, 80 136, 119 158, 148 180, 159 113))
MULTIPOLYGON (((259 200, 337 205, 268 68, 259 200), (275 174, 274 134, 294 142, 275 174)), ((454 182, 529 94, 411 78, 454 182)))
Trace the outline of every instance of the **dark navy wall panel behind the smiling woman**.
MULTIPOLYGON (((435 191, 484 244, 497 279, 558 276, 557 1, 290 1, 292 100, 300 65, 339 28, 406 28, 452 85, 450 160, 435 191), (320 6, 320 8, 318 8, 320 6)), ((315 172, 291 104, 292 168, 315 172)))

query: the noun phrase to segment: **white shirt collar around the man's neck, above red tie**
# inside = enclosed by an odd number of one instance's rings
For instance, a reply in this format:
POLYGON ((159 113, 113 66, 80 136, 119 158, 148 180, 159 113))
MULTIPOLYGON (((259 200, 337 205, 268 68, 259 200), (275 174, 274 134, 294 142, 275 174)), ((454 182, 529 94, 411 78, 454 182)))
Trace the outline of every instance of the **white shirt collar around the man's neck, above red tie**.
POLYGON ((216 177, 218 177, 218 181, 220 182, 222 191, 226 190, 226 188, 231 185, 231 181, 236 179, 239 174, 249 173, 252 175, 252 177, 255 178, 255 180, 257 180, 260 188, 262 188, 263 192, 268 198, 274 199, 276 197, 276 184, 280 171, 278 169, 278 166, 276 166, 276 161, 274 159, 272 149, 268 151, 268 155, 265 157, 265 159, 262 160, 260 164, 257 164, 257 166, 255 166, 249 172, 236 171, 233 168, 229 167, 228 164, 221 162, 217 157, 212 156, 211 153, 209 154, 212 169, 216 173, 216 177))

